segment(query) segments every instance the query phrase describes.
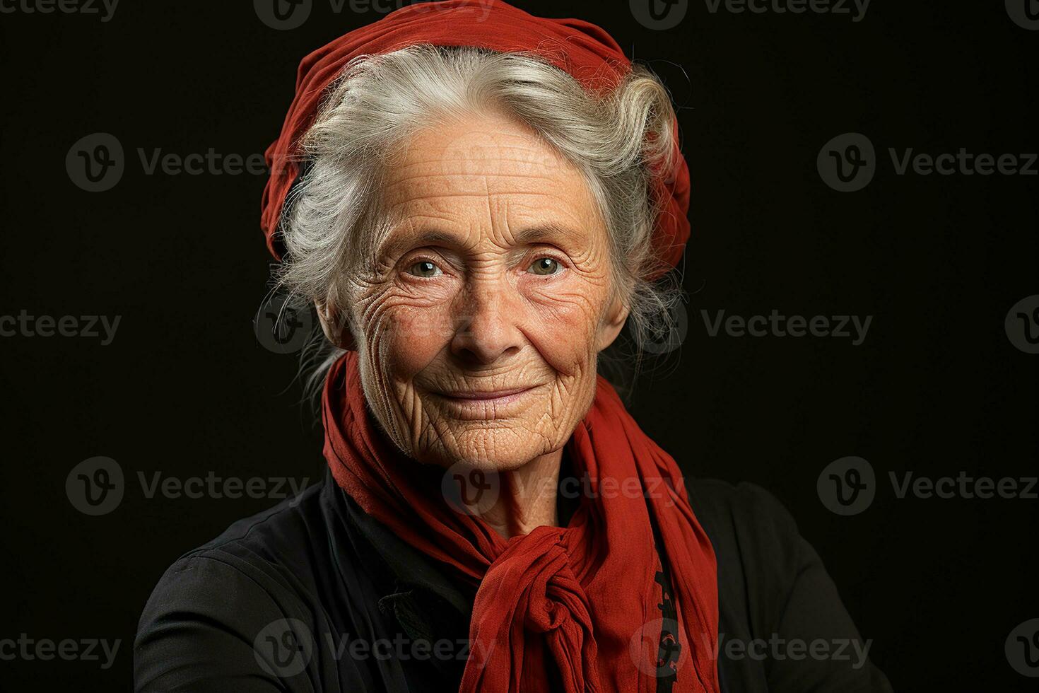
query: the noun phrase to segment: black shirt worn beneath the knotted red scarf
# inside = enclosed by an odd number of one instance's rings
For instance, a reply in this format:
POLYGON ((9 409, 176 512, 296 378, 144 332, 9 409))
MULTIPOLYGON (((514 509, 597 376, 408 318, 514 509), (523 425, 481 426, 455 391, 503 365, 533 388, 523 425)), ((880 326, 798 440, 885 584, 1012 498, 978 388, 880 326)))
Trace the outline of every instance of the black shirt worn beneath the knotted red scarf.
MULTIPOLYGON (((688 646, 717 647, 723 692, 891 690, 770 494, 721 481, 687 489, 717 556, 720 610, 719 642, 688 646)), ((571 509, 560 508, 561 524, 571 509)), ((166 570, 138 625, 135 690, 457 690, 480 656, 469 651, 474 597, 326 474, 166 570)), ((647 673, 670 690, 665 673, 647 673)))

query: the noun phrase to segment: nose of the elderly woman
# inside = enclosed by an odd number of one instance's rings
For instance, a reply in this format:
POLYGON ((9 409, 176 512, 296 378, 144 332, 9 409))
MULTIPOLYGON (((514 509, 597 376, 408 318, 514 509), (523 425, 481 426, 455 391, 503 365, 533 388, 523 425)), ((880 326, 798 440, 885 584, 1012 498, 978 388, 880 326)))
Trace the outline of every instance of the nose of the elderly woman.
POLYGON ((523 347, 518 327, 521 306, 507 282, 492 278, 471 281, 458 303, 451 351, 477 364, 492 364, 523 347))

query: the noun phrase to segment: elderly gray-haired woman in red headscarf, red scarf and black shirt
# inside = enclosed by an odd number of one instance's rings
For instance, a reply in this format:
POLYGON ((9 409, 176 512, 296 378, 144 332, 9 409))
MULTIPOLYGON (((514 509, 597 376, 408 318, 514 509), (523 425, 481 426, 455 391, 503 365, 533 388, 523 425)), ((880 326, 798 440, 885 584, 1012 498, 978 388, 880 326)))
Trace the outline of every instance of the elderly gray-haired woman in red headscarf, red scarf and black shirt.
POLYGON ((328 475, 169 568, 138 691, 888 690, 782 508, 685 483, 598 374, 676 298, 676 134, 602 29, 503 2, 303 60, 263 222, 328 475))

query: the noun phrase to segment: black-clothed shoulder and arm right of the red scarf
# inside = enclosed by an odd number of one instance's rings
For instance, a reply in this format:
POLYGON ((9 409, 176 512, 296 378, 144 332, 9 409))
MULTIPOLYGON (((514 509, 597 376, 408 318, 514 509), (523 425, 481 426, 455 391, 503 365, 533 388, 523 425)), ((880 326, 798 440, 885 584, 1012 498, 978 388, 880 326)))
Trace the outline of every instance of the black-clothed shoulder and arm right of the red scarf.
POLYGON ((783 504, 752 483, 687 480, 686 487, 718 563, 719 670, 727 688, 889 693, 869 659, 873 641, 859 635, 783 504), (814 656, 805 658, 805 648, 814 656), (769 666, 753 652, 770 655, 769 666))

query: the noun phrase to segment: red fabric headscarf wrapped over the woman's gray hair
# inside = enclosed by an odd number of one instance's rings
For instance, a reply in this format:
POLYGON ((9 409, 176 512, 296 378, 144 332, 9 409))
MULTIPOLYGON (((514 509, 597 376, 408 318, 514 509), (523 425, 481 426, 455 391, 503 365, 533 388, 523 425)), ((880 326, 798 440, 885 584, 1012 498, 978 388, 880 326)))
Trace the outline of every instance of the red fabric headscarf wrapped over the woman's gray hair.
MULTIPOLYGON (((415 3, 340 36, 299 63, 296 96, 281 136, 266 152, 271 175, 263 193, 261 225, 275 259, 281 260, 275 233, 282 208, 299 172, 297 142, 314 122, 325 87, 358 55, 389 53, 415 44, 536 53, 589 90, 610 89, 631 70, 617 43, 594 24, 534 17, 500 0, 415 3)), ((675 169, 658 176, 654 184, 656 198, 664 203, 654 245, 671 267, 682 260, 689 239, 689 166, 677 148, 677 122, 674 133, 675 169)))

